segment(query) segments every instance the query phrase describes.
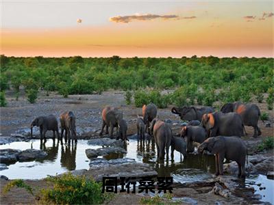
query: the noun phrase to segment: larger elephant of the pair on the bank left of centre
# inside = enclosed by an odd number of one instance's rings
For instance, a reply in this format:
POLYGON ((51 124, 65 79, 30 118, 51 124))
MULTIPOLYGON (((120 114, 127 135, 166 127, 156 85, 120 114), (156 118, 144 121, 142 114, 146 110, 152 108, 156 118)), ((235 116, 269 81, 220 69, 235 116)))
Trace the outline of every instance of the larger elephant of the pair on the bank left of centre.
POLYGON ((110 126, 110 138, 113 135, 113 129, 116 127, 116 134, 118 134, 118 121, 123 119, 123 113, 116 107, 105 107, 102 111, 103 124, 99 135, 103 135, 103 128, 106 126, 105 135, 108 135, 108 127, 110 126))

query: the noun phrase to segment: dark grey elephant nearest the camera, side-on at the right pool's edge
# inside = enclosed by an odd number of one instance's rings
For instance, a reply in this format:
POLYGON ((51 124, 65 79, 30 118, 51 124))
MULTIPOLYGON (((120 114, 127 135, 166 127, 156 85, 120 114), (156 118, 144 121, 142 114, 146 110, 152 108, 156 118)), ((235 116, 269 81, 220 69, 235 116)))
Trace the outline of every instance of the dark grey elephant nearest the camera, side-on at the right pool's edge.
MULTIPOLYGON (((210 137, 201 143, 198 152, 208 150, 215 154, 216 176, 223 175, 223 160, 236 161, 238 164, 238 177, 245 178, 245 159, 247 159, 247 146, 237 136, 210 137)), ((248 163, 248 161, 247 161, 248 163)))

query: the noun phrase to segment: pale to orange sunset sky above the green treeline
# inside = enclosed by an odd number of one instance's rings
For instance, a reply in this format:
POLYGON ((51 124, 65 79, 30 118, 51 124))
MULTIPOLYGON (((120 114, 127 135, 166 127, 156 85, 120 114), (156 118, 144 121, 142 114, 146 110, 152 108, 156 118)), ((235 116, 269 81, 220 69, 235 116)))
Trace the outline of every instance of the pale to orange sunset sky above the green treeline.
POLYGON ((273 57, 273 1, 1 0, 0 53, 273 57))

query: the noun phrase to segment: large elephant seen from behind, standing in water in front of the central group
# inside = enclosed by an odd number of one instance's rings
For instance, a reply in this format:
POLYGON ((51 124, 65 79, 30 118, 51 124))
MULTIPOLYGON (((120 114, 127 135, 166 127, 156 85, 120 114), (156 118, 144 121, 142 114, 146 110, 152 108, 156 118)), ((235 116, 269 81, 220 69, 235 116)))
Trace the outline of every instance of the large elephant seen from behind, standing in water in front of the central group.
POLYGON ((162 120, 154 118, 151 122, 149 131, 153 133, 158 159, 164 159, 164 150, 166 150, 167 161, 169 159, 169 147, 171 146, 171 138, 173 136, 171 127, 168 124, 162 122, 162 120))

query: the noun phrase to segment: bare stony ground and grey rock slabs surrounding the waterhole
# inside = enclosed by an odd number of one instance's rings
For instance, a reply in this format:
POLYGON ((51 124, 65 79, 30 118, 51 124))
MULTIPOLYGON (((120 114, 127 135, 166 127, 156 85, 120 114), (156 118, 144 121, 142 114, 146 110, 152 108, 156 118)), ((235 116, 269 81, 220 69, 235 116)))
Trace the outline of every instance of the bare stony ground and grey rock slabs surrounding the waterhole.
MULTIPOLYGON (((96 139, 99 137, 98 133, 101 129, 101 110, 106 105, 119 107, 123 111, 124 118, 127 120, 129 127, 128 135, 136 133, 136 116, 142 113, 141 108, 136 108, 134 105, 125 105, 123 92, 103 92, 101 95, 75 95, 69 96, 69 98, 62 98, 55 94, 50 94, 49 96, 40 94, 40 98, 34 105, 29 104, 22 96, 18 101, 12 97, 12 94, 7 94, 7 97, 8 107, 1 108, 1 143, 28 139, 29 124, 39 115, 54 114, 58 117, 63 111, 71 110, 77 116, 76 124, 79 137, 82 139, 96 139)), ((243 139, 249 148, 249 155, 252 155, 249 156, 249 167, 247 167, 247 170, 249 173, 266 175, 267 172, 273 171, 273 150, 257 153, 256 146, 258 146, 258 143, 260 143, 264 137, 273 136, 273 112, 266 109, 265 103, 260 103, 258 106, 262 112, 269 113, 269 123, 271 127, 266 127, 265 124, 260 121, 259 126, 262 130, 262 136, 258 138, 251 137, 253 135, 253 128, 246 127, 248 136, 243 137, 243 139)), ((171 124, 175 134, 179 133, 182 121, 177 115, 171 113, 171 107, 160 109, 159 116, 162 120, 166 120, 166 122, 171 124)), ((38 130, 36 130, 36 132, 34 131, 34 134, 38 134, 37 131, 38 130)), ((48 136, 50 135, 51 132, 48 132, 48 136)), ((36 135, 34 137, 39 136, 36 135)), ((117 151, 117 148, 115 149, 117 151)), ((124 152, 120 148, 118 148, 118 150, 118 152, 124 152)), ((5 152, 8 151, 6 150, 5 152)), ((16 155, 14 155, 14 160, 16 161, 31 160, 33 154, 37 154, 37 157, 42 157, 41 155, 43 155, 43 153, 40 152, 33 152, 35 153, 29 153, 29 151, 21 153, 18 151, 15 153, 11 152, 11 154, 16 155)), ((108 152, 108 150, 88 150, 90 158, 103 155, 105 152, 108 152)), ((3 150, 1 150, 1 154, 3 155, 3 150)), ((136 162, 131 159, 108 162, 97 159, 92 162, 91 167, 95 167, 95 169, 77 170, 73 173, 91 175, 97 178, 97 180, 101 180, 101 173, 108 173, 113 176, 122 176, 121 174, 127 176, 132 175, 134 172, 136 176, 155 176, 157 174, 155 170, 147 167, 146 164, 138 165, 140 169, 136 170, 136 162)), ((0 164, 0 169, 1 167, 5 167, 5 164, 0 164)), ((229 163, 225 165, 225 170, 233 175, 237 171, 237 167, 235 163, 229 163)), ((191 184, 173 184, 173 193, 174 197, 182 200, 182 204, 216 204, 216 202, 219 202, 219 204, 259 203, 258 200, 260 197, 253 194, 254 190, 252 187, 240 188, 235 184, 235 180, 238 179, 233 175, 212 177, 212 179, 208 181, 191 184)), ((7 182, 7 180, 1 179, 1 189, 7 182)), ((26 182, 27 184, 37 187, 38 190, 46 186, 44 180, 26 180, 26 182)), ((119 194, 114 197, 111 204, 138 204, 141 197, 142 195, 119 194)), ((38 203, 35 197, 23 189, 12 189, 8 194, 1 195, 1 202, 5 202, 5 204, 38 203)))

